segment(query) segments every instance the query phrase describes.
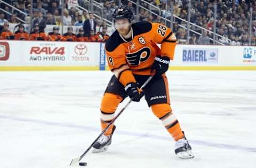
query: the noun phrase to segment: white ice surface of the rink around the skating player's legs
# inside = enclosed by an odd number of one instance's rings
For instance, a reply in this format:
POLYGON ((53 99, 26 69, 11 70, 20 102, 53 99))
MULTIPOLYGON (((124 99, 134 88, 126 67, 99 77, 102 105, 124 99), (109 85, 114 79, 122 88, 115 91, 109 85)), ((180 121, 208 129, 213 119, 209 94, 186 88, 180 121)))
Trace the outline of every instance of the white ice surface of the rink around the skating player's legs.
MULTIPOLYGON (((111 75, 0 72, 0 167, 69 167, 101 132, 99 107, 111 75)), ((107 152, 85 155, 87 167, 256 167, 256 71, 167 77, 195 158, 175 156, 173 139, 143 99, 117 119, 107 152)))

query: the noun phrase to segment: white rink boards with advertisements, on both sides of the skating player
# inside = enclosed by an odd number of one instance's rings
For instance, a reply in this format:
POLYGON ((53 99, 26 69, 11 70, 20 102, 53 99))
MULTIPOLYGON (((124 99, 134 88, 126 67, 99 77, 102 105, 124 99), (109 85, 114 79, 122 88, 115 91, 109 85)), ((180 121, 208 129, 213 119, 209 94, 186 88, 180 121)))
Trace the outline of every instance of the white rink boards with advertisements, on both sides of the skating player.
MULTIPOLYGON (((0 41, 0 70, 108 70, 105 43, 0 41)), ((177 45, 171 70, 256 70, 256 47, 177 45)))

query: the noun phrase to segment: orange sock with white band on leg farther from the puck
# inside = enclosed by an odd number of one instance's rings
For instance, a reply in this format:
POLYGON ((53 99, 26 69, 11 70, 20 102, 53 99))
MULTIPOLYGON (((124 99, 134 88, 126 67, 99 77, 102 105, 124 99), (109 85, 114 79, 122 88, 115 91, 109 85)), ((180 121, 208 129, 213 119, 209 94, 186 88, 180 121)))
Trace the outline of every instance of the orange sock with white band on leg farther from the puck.
POLYGON ((175 141, 184 137, 180 124, 176 117, 174 116, 171 106, 167 103, 164 104, 154 104, 151 106, 153 113, 160 119, 167 131, 172 135, 175 141))

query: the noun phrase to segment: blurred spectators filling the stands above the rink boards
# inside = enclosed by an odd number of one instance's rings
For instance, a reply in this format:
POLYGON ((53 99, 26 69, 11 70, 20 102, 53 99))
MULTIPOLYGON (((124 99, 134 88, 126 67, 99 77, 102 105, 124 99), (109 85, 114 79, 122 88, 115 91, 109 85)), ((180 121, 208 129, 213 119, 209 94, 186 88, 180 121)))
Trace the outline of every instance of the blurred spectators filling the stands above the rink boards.
MULTIPOLYGON (((5 13, 0 13, 0 24, 3 26, 3 31, 7 29, 7 23, 20 23, 17 18, 25 20, 27 23, 30 22, 29 12, 31 5, 33 5, 33 30, 35 32, 37 27, 38 31, 43 32, 47 24, 56 25, 57 28, 62 24, 65 26, 80 26, 79 32, 83 32, 83 36, 86 37, 86 40, 90 41, 90 36, 95 36, 93 39, 96 41, 105 40, 103 32, 107 29, 106 22, 101 22, 98 19, 95 19, 93 13, 83 11, 80 13, 75 7, 68 7, 65 4, 65 9, 63 9, 63 21, 61 20, 61 6, 59 0, 34 0, 31 4, 30 0, 4 0, 6 3, 9 3, 23 13, 18 11, 12 11, 9 6, 5 4, 0 4, 0 7, 7 12, 12 13, 12 15, 6 15, 5 13), (101 31, 97 32, 95 26, 99 26, 101 31), (94 32, 93 32, 93 31, 94 32), (96 37, 99 38, 96 38, 96 37)), ((104 6, 104 15, 103 17, 111 21, 112 13, 115 7, 118 5, 119 1, 102 1, 98 0, 104 6)), ((134 13, 134 21, 147 20, 151 22, 159 22, 162 24, 167 24, 171 26, 169 21, 165 22, 165 14, 167 19, 171 19, 171 7, 170 1, 167 1, 167 11, 165 11, 166 1, 161 0, 149 0, 149 1, 140 1, 140 5, 143 6, 139 8, 137 13, 136 1, 121 1, 122 4, 129 6, 131 11, 134 13), (150 13, 153 12, 152 13, 150 13), (161 15, 163 17, 161 17, 161 15)), ((180 19, 175 18, 173 22, 173 32, 178 38, 178 43, 180 44, 213 44, 213 31, 214 26, 214 2, 217 3, 217 16, 216 16, 216 32, 220 35, 217 36, 217 40, 225 45, 249 45, 249 22, 250 22, 250 7, 253 9, 252 14, 252 37, 251 44, 256 45, 256 1, 253 0, 227 0, 227 1, 213 1, 213 0, 191 0, 191 10, 190 10, 190 22, 197 24, 198 26, 203 27, 205 30, 198 28, 196 26, 191 26, 190 29, 194 30, 202 35, 198 35, 190 31, 189 41, 187 41, 187 30, 181 28, 180 26, 187 27, 187 23, 183 22, 180 19)), ((78 0, 78 4, 83 7, 88 7, 89 1, 78 0)), ((86 8, 89 9, 89 8, 86 8)), ((178 16, 181 19, 188 19, 188 1, 187 0, 174 0, 173 14, 178 16)), ((21 26, 22 27, 22 26, 21 26)), ((19 28, 22 29, 22 28, 19 28)), ((71 31, 69 29, 69 31, 71 31)), ((16 31, 17 32, 17 31, 16 31)), ((15 33, 13 32, 14 36, 15 33)), ((81 33, 76 33, 75 36, 80 36, 81 33)), ((10 32, 9 32, 10 33, 10 32)), ((68 32, 66 32, 68 33, 68 32)), ((74 33, 74 31, 73 31, 74 33)), ((7 33, 4 33, 7 34, 7 33)), ((65 34, 61 35, 65 36, 65 34)), ((29 36, 29 39, 32 36, 29 36)), ((3 39, 3 36, 1 36, 3 39)), ((14 37, 17 39, 17 37, 14 37)), ((45 36, 45 40, 51 39, 49 35, 45 36)), ((58 38, 59 39, 59 38, 58 38)), ((65 38, 60 38, 59 40, 64 40, 65 38)))

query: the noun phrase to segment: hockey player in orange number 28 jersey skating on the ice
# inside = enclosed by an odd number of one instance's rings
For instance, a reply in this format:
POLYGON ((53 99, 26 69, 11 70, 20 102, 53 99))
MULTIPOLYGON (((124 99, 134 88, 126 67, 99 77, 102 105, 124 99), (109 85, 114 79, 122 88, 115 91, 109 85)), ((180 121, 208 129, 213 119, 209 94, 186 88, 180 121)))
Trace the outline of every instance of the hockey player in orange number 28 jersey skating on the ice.
MULTIPOLYGON (((106 43, 110 70, 114 73, 101 102, 101 127, 105 129, 114 119, 119 103, 129 96, 139 102, 143 93, 138 88, 152 71, 154 78, 143 89, 148 106, 162 121, 175 142, 175 154, 180 158, 193 158, 191 147, 172 113, 169 88, 165 72, 173 60, 176 37, 159 23, 141 21, 132 23, 132 12, 127 6, 118 6, 113 13, 116 31, 106 43), (156 44, 161 44, 159 48, 156 44)), ((111 144, 115 125, 93 145, 93 153, 102 152, 111 144)))

